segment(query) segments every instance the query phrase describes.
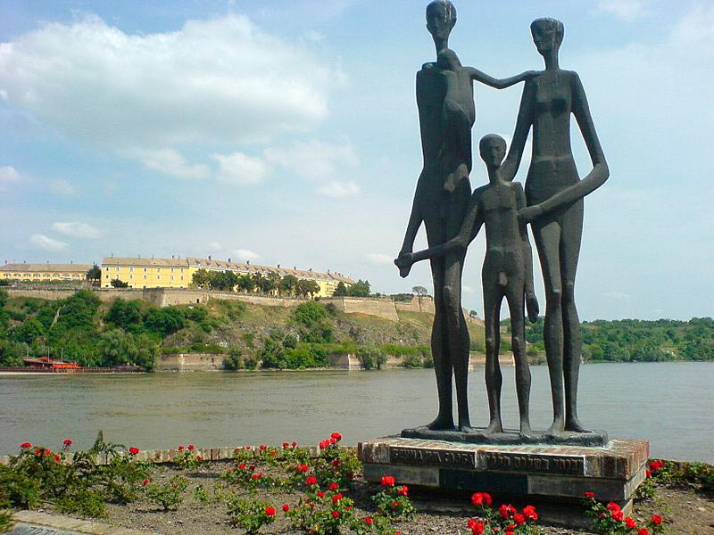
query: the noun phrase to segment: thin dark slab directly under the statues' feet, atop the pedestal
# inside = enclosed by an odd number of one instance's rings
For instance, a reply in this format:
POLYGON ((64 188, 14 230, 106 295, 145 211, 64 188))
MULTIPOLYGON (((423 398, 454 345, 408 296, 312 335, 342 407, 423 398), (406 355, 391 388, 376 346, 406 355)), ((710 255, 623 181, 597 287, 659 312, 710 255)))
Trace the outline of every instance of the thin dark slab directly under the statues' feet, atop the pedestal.
POLYGON ((605 448, 610 441, 608 433, 604 431, 589 432, 560 432, 550 433, 545 431, 534 431, 527 435, 520 435, 519 432, 492 432, 486 433, 486 429, 474 428, 471 431, 459 431, 458 429, 429 429, 426 425, 404 429, 402 437, 405 439, 422 440, 444 440, 446 442, 467 442, 469 444, 493 444, 493 445, 552 445, 552 446, 585 446, 588 448, 605 448))

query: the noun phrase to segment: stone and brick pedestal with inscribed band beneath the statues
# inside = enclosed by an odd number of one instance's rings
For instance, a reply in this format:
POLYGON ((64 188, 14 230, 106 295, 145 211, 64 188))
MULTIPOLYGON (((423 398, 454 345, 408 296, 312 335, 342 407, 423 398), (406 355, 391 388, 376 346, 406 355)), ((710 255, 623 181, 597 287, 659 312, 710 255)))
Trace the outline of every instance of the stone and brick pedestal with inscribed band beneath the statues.
POLYGON ((644 481, 649 449, 644 440, 610 440, 607 447, 592 448, 385 437, 361 442, 358 455, 368 481, 392 475, 397 483, 432 492, 489 492, 497 500, 543 504, 544 521, 575 527, 567 509, 577 509, 585 492, 628 512, 644 481))

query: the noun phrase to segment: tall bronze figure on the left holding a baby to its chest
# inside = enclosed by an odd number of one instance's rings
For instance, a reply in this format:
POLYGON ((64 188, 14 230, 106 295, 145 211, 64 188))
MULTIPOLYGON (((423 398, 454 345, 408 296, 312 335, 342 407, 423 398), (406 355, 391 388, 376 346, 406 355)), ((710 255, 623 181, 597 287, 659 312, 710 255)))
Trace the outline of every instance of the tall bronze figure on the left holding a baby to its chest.
MULTIPOLYGON (((411 216, 400 256, 412 251, 419 226, 427 229, 429 246, 446 243, 459 234, 471 195, 471 133, 476 120, 474 80, 503 88, 527 78, 496 79, 480 70, 462 67, 448 49, 456 24, 456 9, 449 0, 427 6, 427 29, 434 39, 438 62, 428 62, 417 73, 417 106, 424 167, 419 176, 411 216)), ((456 383, 459 428, 470 430, 467 380, 469 331, 461 309, 461 272, 465 251, 451 251, 431 259, 436 314, 431 350, 436 371, 439 411, 429 429, 453 428, 452 376, 456 383)), ((409 268, 400 268, 407 276, 409 268)))

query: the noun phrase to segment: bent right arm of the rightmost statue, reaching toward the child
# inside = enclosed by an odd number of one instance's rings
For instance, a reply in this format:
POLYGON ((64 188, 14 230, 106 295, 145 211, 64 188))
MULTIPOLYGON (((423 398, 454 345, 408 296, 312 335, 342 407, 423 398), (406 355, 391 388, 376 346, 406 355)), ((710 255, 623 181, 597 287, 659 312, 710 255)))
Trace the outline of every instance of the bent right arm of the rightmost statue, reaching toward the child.
POLYGON ((597 137, 597 132, 595 132, 595 125, 593 122, 593 116, 590 114, 590 107, 587 105, 585 89, 583 89, 583 84, 580 82, 580 77, 578 77, 575 73, 573 75, 572 91, 573 115, 575 115, 577 125, 580 127, 580 132, 583 134, 585 146, 587 146, 587 152, 590 152, 590 160, 593 161, 593 170, 576 184, 570 185, 559 193, 555 193, 544 202, 529 207, 527 209, 529 213, 524 220, 532 220, 543 213, 551 210, 557 210, 569 202, 578 201, 585 197, 585 195, 593 193, 597 188, 605 183, 608 177, 610 177, 610 169, 608 168, 607 161, 605 161, 605 154, 602 152, 602 146, 600 145, 600 140, 597 137))

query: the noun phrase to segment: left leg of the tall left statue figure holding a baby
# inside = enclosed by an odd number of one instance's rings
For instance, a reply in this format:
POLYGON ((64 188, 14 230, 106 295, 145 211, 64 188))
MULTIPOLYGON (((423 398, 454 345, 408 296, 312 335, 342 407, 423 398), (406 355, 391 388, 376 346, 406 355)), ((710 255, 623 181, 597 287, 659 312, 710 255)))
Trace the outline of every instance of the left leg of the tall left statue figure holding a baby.
POLYGON ((446 344, 444 308, 444 259, 431 259, 431 273, 434 280, 434 325, 431 329, 431 355, 434 358, 436 391, 439 395, 439 412, 436 419, 428 424, 429 429, 453 428, 452 401, 452 359, 446 344))

